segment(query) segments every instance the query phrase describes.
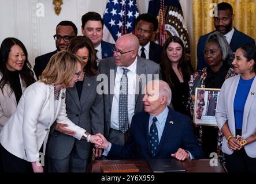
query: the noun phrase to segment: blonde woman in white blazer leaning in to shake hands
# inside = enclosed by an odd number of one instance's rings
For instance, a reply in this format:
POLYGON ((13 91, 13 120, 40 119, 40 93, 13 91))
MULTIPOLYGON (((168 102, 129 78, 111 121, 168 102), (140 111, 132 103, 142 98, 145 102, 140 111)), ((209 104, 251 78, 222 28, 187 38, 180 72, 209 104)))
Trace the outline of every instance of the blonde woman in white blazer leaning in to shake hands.
MULTIPOLYGON (((67 51, 51 57, 38 82, 24 91, 14 114, 0 132, 0 151, 6 172, 43 172, 39 150, 43 154, 54 121, 67 124, 72 136, 99 144, 98 136, 91 136, 77 127, 66 115, 65 88, 73 87, 81 73, 82 61, 67 51), (32 166, 32 167, 31 167, 32 166)), ((69 131, 66 132, 71 135, 69 131)))

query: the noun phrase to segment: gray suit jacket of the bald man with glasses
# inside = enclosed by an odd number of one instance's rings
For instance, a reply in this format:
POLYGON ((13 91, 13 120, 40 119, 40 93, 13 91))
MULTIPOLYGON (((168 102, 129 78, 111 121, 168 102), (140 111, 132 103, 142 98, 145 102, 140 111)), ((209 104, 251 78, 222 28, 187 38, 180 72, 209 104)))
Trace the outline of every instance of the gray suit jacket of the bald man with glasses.
MULTIPOLYGON (((107 59, 101 60, 99 63, 99 72, 100 74, 105 74, 107 78, 102 77, 103 82, 108 86, 103 86, 103 100, 104 100, 104 135, 107 138, 109 136, 110 129, 110 117, 111 117, 111 109, 113 102, 113 94, 114 94, 114 78, 116 77, 116 64, 114 62, 114 57, 109 57, 107 59), (110 72, 112 70, 114 74, 110 72), (111 85, 111 86, 110 86, 111 85)), ((137 68, 136 72, 139 76, 137 76, 136 81, 136 91, 139 91, 139 94, 135 95, 135 113, 141 112, 144 110, 142 99, 144 94, 142 93, 143 87, 142 85, 146 84, 147 74, 159 74, 159 78, 161 78, 159 64, 144 59, 140 56, 137 57, 137 68), (140 76, 140 75, 146 76, 140 76)), ((154 77, 154 75, 153 75, 154 77)), ((154 79, 154 78, 153 78, 154 79)))

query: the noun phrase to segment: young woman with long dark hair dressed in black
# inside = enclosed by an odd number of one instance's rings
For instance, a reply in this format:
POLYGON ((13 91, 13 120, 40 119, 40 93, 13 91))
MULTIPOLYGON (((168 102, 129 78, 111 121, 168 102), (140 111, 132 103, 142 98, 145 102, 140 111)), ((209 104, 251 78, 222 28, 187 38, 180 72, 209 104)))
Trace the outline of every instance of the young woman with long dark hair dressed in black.
POLYGON ((161 58, 162 79, 172 90, 172 105, 174 110, 190 116, 188 109, 190 75, 194 72, 186 59, 183 41, 177 37, 169 37, 165 41, 161 58))

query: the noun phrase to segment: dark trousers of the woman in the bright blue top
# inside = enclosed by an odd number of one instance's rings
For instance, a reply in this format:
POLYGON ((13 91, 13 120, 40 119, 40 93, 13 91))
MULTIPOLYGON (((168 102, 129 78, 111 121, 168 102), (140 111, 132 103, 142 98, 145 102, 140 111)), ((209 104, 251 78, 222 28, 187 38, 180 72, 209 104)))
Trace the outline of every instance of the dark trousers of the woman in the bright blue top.
MULTIPOLYGON (((242 135, 242 131, 236 129, 236 135, 242 135)), ((233 154, 225 154, 226 168, 229 173, 251 172, 256 173, 256 158, 250 158, 244 148, 233 151, 233 154)))

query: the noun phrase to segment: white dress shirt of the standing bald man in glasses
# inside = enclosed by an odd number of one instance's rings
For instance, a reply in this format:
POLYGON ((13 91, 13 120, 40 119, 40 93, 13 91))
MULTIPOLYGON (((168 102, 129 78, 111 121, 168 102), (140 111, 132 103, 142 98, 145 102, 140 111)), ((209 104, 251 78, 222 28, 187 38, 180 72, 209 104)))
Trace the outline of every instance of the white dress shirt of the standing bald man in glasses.
MULTIPOLYGON (((137 57, 135 61, 127 67, 129 69, 127 73, 128 78, 128 122, 131 125, 132 116, 135 112, 135 89, 136 89, 136 67, 137 67, 137 57)), ((117 67, 116 79, 114 80, 114 95, 112 101, 111 110, 111 124, 110 128, 119 130, 119 120, 118 120, 118 108, 119 108, 119 92, 120 92, 120 81, 123 76, 123 68, 117 67)))

